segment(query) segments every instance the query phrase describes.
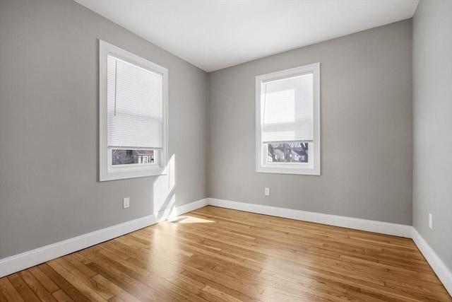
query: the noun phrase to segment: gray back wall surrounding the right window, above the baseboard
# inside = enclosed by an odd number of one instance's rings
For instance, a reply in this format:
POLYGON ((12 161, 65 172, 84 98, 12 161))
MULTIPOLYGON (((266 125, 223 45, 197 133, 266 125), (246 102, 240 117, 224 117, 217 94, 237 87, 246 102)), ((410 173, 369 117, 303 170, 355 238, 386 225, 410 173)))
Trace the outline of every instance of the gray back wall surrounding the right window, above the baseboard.
POLYGON ((411 35, 401 21, 211 73, 209 197, 411 225, 411 35), (315 62, 321 176, 256 173, 255 76, 315 62))

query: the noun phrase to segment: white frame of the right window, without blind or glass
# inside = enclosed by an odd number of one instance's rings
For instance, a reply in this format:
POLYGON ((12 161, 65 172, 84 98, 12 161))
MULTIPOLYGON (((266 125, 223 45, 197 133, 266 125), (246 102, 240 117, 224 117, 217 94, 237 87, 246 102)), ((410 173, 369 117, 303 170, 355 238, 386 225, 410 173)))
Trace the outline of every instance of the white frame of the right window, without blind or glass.
POLYGON ((320 175, 320 63, 299 66, 256 76, 256 172, 300 175, 320 175), (314 80, 314 141, 309 143, 309 163, 268 162, 267 148, 262 143, 263 92, 266 81, 284 79, 312 72, 314 80), (312 158, 312 160, 311 160, 312 158))

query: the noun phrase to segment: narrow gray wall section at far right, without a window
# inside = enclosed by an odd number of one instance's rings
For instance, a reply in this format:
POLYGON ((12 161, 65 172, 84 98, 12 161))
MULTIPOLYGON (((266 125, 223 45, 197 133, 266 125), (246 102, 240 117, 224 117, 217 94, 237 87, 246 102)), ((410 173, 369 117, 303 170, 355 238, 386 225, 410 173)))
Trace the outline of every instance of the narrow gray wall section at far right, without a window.
POLYGON ((452 271, 452 1, 420 1, 412 59, 413 226, 452 271))

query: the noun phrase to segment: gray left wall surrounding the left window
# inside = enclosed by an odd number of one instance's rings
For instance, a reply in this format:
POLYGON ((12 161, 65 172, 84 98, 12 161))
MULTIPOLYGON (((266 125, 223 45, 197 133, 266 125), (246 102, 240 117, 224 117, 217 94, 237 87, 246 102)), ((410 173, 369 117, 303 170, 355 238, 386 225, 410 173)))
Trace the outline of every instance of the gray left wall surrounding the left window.
POLYGON ((169 198, 207 197, 206 72, 74 1, 0 11, 0 259, 158 210, 156 178, 98 182, 98 38, 169 69, 169 198))

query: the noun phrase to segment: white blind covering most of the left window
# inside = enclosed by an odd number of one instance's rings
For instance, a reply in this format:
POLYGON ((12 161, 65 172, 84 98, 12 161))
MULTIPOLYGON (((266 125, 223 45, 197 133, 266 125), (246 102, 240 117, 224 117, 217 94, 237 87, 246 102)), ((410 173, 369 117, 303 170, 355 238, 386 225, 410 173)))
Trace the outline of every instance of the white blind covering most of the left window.
POLYGON ((162 149, 162 74, 108 56, 108 147, 162 149))

